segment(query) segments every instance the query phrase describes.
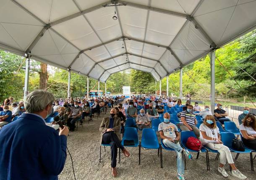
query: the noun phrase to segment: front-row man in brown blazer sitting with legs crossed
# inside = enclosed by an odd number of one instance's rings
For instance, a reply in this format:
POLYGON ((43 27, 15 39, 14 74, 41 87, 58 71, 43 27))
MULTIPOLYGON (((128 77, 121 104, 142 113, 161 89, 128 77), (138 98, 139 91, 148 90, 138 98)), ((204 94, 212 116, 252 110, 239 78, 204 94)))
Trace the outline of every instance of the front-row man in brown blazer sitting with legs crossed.
POLYGON ((110 111, 110 117, 104 117, 99 131, 101 132, 101 144, 110 144, 111 147, 111 167, 112 167, 112 175, 114 177, 117 176, 116 170, 116 158, 118 155, 118 148, 120 148, 125 155, 125 157, 129 157, 130 153, 121 145, 121 120, 116 116, 116 109, 113 108, 110 111))

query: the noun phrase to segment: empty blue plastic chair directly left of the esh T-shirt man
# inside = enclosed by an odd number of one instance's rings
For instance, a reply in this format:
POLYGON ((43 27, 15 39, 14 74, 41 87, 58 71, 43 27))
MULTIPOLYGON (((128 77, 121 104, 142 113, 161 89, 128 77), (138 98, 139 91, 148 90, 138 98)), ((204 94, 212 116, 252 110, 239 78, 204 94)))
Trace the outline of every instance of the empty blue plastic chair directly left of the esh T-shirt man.
POLYGON ((154 131, 154 129, 151 128, 144 128, 142 130, 141 135, 141 142, 139 143, 139 149, 138 149, 138 164, 141 164, 141 147, 144 147, 146 149, 158 149, 158 156, 160 152, 160 166, 162 166, 162 148, 159 145, 157 134, 154 131))

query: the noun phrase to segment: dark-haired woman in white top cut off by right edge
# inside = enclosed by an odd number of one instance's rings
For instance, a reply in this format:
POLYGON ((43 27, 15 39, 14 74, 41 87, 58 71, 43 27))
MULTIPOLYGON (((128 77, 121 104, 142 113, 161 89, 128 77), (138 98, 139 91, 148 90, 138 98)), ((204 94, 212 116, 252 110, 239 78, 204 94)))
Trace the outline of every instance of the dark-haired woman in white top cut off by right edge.
POLYGON ((247 114, 239 127, 243 136, 243 144, 256 151, 256 118, 253 114, 247 114))

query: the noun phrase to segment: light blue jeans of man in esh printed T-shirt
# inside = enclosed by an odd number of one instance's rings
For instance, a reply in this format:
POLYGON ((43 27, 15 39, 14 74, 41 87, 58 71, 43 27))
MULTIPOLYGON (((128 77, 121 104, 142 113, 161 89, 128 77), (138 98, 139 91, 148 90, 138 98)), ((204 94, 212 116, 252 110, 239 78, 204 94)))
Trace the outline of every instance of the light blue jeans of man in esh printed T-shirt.
POLYGON ((163 139, 163 143, 166 147, 170 147, 175 150, 177 154, 177 169, 178 174, 184 175, 184 163, 183 163, 183 148, 180 146, 180 143, 173 143, 168 139, 163 139))

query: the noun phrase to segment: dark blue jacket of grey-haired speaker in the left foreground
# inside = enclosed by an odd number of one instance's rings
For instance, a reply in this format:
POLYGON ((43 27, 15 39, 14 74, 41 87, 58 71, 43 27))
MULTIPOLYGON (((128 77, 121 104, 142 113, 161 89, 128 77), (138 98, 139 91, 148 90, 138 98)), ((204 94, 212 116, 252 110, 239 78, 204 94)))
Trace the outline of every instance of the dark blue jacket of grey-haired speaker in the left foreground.
POLYGON ((57 180, 67 157, 67 137, 35 114, 24 113, 0 129, 0 180, 57 180))

